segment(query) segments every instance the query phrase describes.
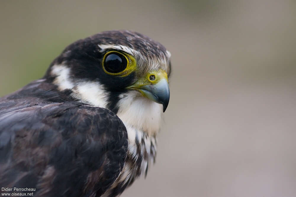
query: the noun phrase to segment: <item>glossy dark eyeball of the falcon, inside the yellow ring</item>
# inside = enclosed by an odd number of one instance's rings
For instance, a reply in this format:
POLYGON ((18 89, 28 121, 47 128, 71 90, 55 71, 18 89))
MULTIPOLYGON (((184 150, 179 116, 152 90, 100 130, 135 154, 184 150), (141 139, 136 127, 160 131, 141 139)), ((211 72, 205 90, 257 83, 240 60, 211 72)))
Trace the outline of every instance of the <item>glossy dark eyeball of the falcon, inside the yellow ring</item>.
POLYGON ((126 58, 120 53, 110 53, 105 58, 104 67, 110 73, 118 73, 126 69, 126 58))

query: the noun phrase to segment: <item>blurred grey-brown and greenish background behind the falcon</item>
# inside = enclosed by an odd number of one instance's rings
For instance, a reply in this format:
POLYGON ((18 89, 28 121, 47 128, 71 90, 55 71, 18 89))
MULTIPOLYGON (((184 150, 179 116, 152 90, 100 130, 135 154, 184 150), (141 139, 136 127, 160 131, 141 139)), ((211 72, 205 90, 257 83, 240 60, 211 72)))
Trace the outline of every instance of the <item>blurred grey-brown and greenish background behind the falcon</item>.
POLYGON ((156 164, 121 196, 296 196, 296 1, 0 1, 0 96, 113 29, 171 52, 156 164))

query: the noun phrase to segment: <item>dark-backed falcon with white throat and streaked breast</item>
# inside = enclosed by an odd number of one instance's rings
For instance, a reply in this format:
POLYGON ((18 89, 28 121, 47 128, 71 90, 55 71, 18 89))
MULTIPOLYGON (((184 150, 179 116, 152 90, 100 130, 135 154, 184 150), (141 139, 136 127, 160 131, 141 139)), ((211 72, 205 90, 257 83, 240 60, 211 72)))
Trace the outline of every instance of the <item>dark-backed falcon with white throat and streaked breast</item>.
POLYGON ((170 72, 170 52, 137 32, 67 46, 43 78, 0 98, 1 187, 118 196, 155 162, 170 72))

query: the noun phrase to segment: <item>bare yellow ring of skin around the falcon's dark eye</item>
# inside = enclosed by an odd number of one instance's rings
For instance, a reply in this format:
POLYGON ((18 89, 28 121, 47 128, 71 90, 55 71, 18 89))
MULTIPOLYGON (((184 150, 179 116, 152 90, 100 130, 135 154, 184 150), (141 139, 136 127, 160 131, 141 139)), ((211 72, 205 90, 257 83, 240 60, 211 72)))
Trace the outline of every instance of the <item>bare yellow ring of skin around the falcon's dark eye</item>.
POLYGON ((123 53, 123 52, 119 52, 119 51, 108 51, 104 55, 104 58, 103 58, 103 61, 102 61, 102 66, 103 66, 103 69, 104 69, 105 73, 110 74, 110 75, 116 75, 116 76, 124 77, 124 76, 128 76, 129 74, 131 74, 131 72, 136 70, 137 61, 133 56, 131 56, 131 55, 127 54, 127 53, 123 53), (105 58, 107 57, 107 55, 109 53, 119 53, 119 54, 123 55, 126 58, 126 61, 127 61, 126 69, 124 69, 123 71, 121 71, 119 73, 110 73, 110 72, 106 71, 106 69, 104 67, 104 61, 105 61, 105 58))

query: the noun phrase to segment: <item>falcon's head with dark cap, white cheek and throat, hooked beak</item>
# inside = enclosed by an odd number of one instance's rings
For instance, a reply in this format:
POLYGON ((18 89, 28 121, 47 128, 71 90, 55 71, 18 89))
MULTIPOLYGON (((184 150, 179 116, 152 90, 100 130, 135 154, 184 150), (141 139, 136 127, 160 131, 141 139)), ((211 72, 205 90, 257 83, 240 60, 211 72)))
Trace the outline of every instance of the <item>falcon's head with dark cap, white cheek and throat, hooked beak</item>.
POLYGON ((155 134, 170 98, 170 71, 170 52, 160 43, 137 32, 106 31, 69 45, 46 77, 74 99, 155 134))

